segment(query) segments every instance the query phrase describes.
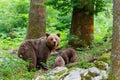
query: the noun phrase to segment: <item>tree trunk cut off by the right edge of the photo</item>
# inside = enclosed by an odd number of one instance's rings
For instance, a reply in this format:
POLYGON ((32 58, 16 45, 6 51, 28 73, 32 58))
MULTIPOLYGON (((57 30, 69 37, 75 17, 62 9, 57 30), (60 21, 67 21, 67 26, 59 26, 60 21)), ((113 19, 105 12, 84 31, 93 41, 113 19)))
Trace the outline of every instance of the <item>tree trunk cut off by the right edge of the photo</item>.
POLYGON ((109 80, 120 80, 120 0, 113 0, 113 40, 109 80))

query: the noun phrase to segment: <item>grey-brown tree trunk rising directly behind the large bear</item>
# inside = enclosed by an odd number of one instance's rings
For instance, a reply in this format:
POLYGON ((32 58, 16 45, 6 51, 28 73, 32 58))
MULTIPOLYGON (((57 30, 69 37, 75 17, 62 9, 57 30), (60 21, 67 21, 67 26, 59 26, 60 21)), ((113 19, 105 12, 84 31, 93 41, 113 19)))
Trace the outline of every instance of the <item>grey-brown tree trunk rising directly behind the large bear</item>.
POLYGON ((46 8, 45 0, 31 0, 29 11, 29 23, 26 39, 39 38, 46 32, 46 8))

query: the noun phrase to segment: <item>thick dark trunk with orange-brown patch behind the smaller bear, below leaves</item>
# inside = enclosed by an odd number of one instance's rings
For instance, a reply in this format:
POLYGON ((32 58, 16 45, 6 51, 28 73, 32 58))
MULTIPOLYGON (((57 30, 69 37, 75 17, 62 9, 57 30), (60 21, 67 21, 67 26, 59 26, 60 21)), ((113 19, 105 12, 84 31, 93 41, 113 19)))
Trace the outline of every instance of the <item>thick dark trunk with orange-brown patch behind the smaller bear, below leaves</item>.
POLYGON ((94 15, 92 13, 86 13, 90 9, 93 10, 94 6, 92 5, 91 8, 86 7, 83 9, 73 8, 70 29, 72 38, 69 41, 69 45, 73 48, 86 47, 92 44, 94 15))

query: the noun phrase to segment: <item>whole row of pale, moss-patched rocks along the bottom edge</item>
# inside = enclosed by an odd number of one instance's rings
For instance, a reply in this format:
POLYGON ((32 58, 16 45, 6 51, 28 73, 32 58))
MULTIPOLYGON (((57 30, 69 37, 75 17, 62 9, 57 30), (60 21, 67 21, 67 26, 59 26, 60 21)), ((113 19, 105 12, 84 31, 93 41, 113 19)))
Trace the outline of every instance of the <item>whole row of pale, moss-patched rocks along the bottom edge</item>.
POLYGON ((107 80, 108 73, 96 67, 88 69, 56 67, 44 75, 38 75, 35 80, 107 80))

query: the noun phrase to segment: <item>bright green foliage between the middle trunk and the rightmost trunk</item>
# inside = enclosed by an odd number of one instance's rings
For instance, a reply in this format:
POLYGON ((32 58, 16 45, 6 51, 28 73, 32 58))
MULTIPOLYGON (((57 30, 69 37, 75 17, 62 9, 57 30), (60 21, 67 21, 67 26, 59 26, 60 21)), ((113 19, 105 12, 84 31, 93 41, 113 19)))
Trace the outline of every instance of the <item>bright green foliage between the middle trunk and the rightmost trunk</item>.
POLYGON ((112 38, 112 4, 106 4, 106 11, 95 15, 94 20, 94 42, 103 43, 110 41, 112 38))

